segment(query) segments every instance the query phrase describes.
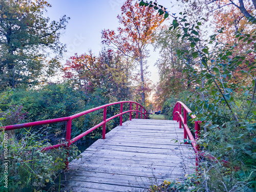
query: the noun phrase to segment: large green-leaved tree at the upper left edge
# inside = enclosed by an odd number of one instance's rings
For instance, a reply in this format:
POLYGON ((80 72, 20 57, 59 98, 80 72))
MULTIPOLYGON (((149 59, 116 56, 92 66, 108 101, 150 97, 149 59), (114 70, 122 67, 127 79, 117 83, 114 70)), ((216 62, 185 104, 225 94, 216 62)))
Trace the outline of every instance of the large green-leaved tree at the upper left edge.
POLYGON ((39 78, 45 81, 60 66, 58 58, 65 46, 59 37, 69 17, 64 15, 59 22, 50 22, 50 18, 44 16, 47 7, 51 5, 44 0, 0 1, 2 88, 36 84, 39 78), (44 69, 47 69, 45 77, 42 76, 44 69))

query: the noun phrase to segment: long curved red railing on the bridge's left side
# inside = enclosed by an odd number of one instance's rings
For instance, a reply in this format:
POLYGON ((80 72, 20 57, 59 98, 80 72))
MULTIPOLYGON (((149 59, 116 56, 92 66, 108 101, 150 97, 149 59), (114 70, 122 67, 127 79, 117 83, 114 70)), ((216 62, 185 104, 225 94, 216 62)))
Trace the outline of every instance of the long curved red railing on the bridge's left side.
MULTIPOLYGON (((86 136, 87 134, 91 133, 92 131, 94 131, 95 129, 97 129, 98 127, 100 127, 102 125, 103 125, 102 139, 105 139, 106 122, 120 116, 120 125, 122 125, 122 115, 125 114, 125 113, 130 113, 130 120, 132 120, 132 112, 136 112, 136 119, 138 119, 138 113, 141 114, 141 119, 142 119, 142 115, 144 116, 144 119, 148 118, 147 111, 145 110, 145 108, 140 103, 137 103, 137 102, 134 102, 134 101, 118 101, 118 102, 113 102, 113 103, 109 103, 109 104, 104 104, 104 105, 98 106, 96 108, 93 108, 93 109, 90 109, 90 110, 87 110, 87 111, 83 111, 81 113, 78 113, 78 114, 75 114, 75 115, 72 115, 72 116, 69 116, 69 117, 49 119, 49 120, 43 120, 43 121, 35 121, 35 122, 29 122, 29 123, 23 123, 23 124, 8 125, 8 126, 0 127, 0 129, 5 129, 6 131, 8 131, 8 130, 22 129, 22 128, 30 127, 30 126, 44 125, 44 124, 67 121, 66 143, 60 143, 60 144, 52 145, 52 146, 49 146, 49 147, 42 148, 42 150, 41 150, 41 151, 47 151, 47 150, 52 150, 54 148, 63 147, 63 146, 69 147, 70 144, 76 142, 77 140, 81 139, 82 137, 86 136), (130 103, 130 110, 123 112, 123 103, 130 103), (133 103, 136 104, 136 110, 133 110, 133 108, 132 108, 133 103), (106 119, 106 108, 108 106, 115 105, 115 104, 120 104, 120 113, 106 119), (138 110, 139 106, 140 106, 140 111, 138 110), (83 132, 82 134, 80 134, 80 135, 76 136, 75 138, 71 139, 72 120, 75 119, 75 118, 81 117, 83 115, 89 114, 91 112, 100 110, 100 109, 103 109, 103 121, 98 123, 97 125, 93 126, 91 129, 87 130, 86 132, 83 132)), ((66 160, 66 168, 68 168, 68 160, 66 160)))

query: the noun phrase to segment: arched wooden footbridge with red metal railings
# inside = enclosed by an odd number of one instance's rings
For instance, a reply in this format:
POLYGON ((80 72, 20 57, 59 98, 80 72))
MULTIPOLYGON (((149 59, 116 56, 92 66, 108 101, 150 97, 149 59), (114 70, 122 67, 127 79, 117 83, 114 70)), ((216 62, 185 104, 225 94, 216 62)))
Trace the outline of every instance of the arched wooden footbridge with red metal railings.
POLYGON ((187 126, 187 113, 191 118, 196 118, 184 103, 178 101, 174 106, 174 120, 152 120, 147 119, 148 113, 141 104, 134 101, 119 101, 69 117, 1 128, 8 131, 67 121, 66 142, 41 149, 47 151, 69 147, 102 126, 102 139, 87 148, 81 154, 81 159, 73 160, 71 163, 66 161, 67 171, 61 175, 62 191, 148 191, 150 185, 161 184, 164 180, 182 181, 186 174, 193 173, 198 166, 199 148, 196 140, 200 122, 195 121, 194 139, 187 126), (120 113, 106 119, 108 106, 115 104, 120 104, 120 113), (130 110, 123 112, 123 104, 130 104, 130 110), (71 139, 73 119, 102 109, 102 122, 71 139), (136 119, 132 119, 134 112, 136 119), (122 116, 125 113, 130 113, 130 121, 123 123, 122 116), (120 125, 105 134, 106 122, 119 116, 120 125), (191 145, 183 143, 187 136, 191 145))

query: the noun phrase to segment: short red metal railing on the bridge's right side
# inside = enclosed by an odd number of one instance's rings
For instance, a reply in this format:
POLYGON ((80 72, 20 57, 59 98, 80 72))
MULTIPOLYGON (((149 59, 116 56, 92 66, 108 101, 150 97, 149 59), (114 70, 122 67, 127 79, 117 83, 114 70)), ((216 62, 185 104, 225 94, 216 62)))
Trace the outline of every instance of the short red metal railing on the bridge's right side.
MULTIPOLYGON (((173 111, 173 119, 177 120, 177 122, 179 122, 179 127, 180 129, 182 128, 182 124, 183 123, 183 127, 184 127, 184 139, 187 139, 187 135, 189 140, 191 141, 191 145, 193 146, 195 153, 196 153, 196 167, 198 167, 199 165, 199 145, 196 143, 196 141, 199 139, 199 132, 200 132, 200 124, 201 121, 195 121, 195 139, 192 135, 192 133, 190 132, 190 130, 188 129, 187 126, 187 113, 190 115, 191 118, 195 119, 196 116, 191 112, 190 109, 188 109, 188 107, 181 101, 176 102, 175 106, 174 106, 174 111, 173 111), (182 107, 183 107, 183 116, 182 116, 182 107)), ((185 144, 187 144, 187 141, 185 142, 185 144)))

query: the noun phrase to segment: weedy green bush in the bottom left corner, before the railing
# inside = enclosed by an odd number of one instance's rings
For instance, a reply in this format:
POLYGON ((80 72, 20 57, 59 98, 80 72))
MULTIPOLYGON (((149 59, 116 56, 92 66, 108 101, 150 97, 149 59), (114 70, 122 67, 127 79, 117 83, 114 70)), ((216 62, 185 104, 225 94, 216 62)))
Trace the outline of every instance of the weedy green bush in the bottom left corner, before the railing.
POLYGON ((69 161, 78 158, 78 150, 75 145, 71 145, 69 150, 60 147, 41 152, 42 148, 50 145, 47 140, 40 140, 37 133, 31 133, 30 130, 26 130, 24 137, 20 140, 2 130, 0 135, 0 182, 4 183, 5 181, 5 185, 1 185, 0 190, 39 191, 45 186, 45 183, 53 183, 55 174, 65 167, 67 153, 69 153, 69 161))

